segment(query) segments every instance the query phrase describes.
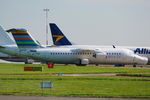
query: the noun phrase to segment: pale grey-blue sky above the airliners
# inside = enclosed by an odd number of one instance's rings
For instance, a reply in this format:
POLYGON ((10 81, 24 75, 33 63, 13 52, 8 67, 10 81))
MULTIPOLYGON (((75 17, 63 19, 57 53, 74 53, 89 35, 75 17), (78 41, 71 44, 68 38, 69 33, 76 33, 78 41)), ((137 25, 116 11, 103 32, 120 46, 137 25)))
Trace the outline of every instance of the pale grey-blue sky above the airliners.
POLYGON ((150 0, 0 0, 0 24, 45 44, 44 8, 75 44, 150 46, 150 0))

